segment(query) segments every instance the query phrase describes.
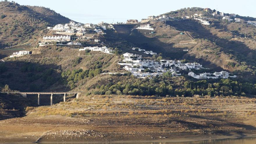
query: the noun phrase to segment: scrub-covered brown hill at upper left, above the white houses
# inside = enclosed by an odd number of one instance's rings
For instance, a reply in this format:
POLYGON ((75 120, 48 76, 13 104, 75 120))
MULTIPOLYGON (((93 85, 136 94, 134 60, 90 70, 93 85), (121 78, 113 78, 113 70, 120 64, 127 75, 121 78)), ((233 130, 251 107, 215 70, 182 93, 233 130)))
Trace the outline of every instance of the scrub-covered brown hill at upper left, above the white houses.
POLYGON ((70 21, 48 8, 8 1, 0 2, 0 15, 0 49, 33 42, 47 26, 70 21))

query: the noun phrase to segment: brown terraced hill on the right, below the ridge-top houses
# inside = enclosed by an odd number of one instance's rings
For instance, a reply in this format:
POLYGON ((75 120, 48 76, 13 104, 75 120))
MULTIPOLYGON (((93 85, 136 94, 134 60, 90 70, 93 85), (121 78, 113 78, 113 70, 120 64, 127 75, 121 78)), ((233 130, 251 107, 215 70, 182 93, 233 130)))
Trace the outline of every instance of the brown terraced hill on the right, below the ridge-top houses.
MULTIPOLYGON (((198 11, 182 10, 181 15, 191 15, 198 11)), ((181 12, 170 15, 178 17, 178 13, 181 12)), ((155 34, 151 34, 149 30, 133 29, 139 24, 115 25, 115 28, 119 38, 136 47, 161 53, 166 58, 197 61, 205 67, 228 70, 254 79, 256 27, 220 19, 209 21, 209 26, 193 19, 166 21, 169 28, 165 27, 164 22, 151 22, 149 24, 154 28, 155 34), (189 51, 183 51, 184 49, 189 51)))

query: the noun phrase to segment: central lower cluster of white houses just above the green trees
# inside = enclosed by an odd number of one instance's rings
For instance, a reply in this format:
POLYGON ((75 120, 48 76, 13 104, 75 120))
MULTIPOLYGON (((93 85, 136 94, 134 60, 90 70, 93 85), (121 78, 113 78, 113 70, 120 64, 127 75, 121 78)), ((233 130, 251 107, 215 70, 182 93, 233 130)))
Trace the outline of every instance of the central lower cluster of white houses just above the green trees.
MULTIPOLYGON (((162 75, 165 72, 170 72, 172 77, 181 76, 181 70, 200 70, 204 69, 200 63, 182 63, 180 60, 166 60, 160 61, 144 60, 141 55, 125 53, 123 54, 123 61, 118 63, 123 66, 123 69, 131 72, 137 78, 149 78, 153 76, 162 75)), ((230 76, 229 72, 221 71, 211 73, 202 73, 196 75, 194 72, 189 72, 189 76, 196 79, 218 79, 228 77, 237 77, 236 75, 230 76)))

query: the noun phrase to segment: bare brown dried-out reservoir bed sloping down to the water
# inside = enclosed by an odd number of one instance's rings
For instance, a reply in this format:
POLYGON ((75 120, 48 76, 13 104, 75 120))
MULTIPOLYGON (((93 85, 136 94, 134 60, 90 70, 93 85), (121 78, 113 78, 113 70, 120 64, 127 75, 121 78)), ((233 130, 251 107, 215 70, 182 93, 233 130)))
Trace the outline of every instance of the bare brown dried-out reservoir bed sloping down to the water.
POLYGON ((95 95, 0 121, 0 142, 181 141, 256 135, 256 99, 95 95))

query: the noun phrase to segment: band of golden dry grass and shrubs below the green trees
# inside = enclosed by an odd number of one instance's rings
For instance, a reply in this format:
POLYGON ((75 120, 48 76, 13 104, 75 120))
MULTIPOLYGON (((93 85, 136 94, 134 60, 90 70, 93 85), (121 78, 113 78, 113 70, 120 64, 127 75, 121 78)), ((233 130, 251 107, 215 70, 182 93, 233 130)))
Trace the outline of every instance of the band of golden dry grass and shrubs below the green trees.
POLYGON ((113 115, 125 117, 256 117, 256 99, 246 97, 139 97, 95 95, 54 106, 27 107, 29 115, 113 115), (237 107, 242 107, 237 108, 237 107))

